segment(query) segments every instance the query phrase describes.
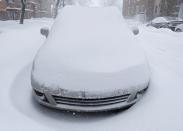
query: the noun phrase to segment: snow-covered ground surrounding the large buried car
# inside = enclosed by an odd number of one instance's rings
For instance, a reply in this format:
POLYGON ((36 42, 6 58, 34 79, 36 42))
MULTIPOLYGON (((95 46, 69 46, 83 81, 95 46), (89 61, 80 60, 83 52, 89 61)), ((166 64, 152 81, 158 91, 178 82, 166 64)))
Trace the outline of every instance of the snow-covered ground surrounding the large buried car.
POLYGON ((31 62, 45 40, 39 29, 52 22, 0 22, 0 130, 183 130, 183 33, 140 26, 135 37, 147 54, 152 73, 145 96, 126 111, 75 114, 42 107, 32 98, 31 62))

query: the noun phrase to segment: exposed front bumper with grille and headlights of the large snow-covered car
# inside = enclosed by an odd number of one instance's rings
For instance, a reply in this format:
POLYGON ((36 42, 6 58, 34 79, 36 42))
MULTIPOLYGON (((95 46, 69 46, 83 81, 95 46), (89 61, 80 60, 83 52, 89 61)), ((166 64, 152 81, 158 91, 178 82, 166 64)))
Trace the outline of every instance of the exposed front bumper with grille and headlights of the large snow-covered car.
POLYGON ((74 99, 63 96, 55 96, 50 94, 48 91, 41 93, 35 89, 33 92, 36 100, 40 104, 47 107, 77 112, 100 112, 129 107, 141 98, 146 89, 147 88, 138 91, 135 94, 124 94, 121 96, 101 99, 74 99))

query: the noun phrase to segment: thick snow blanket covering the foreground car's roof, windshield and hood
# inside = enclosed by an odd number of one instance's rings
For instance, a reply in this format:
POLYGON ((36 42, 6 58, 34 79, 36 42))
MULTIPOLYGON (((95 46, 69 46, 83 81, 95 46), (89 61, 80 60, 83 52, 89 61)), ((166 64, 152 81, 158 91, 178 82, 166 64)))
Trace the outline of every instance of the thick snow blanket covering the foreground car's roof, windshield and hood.
POLYGON ((41 85, 72 90, 129 88, 149 79, 143 51, 114 7, 63 9, 33 67, 41 85))

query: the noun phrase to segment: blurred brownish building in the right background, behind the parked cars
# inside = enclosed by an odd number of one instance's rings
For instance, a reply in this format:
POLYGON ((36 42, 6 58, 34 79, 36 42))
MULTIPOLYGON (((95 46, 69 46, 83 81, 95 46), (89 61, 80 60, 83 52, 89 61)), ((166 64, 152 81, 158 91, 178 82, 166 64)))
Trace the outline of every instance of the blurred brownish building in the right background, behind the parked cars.
POLYGON ((144 14, 147 21, 158 16, 178 17, 181 3, 183 0, 123 0, 123 15, 144 14))

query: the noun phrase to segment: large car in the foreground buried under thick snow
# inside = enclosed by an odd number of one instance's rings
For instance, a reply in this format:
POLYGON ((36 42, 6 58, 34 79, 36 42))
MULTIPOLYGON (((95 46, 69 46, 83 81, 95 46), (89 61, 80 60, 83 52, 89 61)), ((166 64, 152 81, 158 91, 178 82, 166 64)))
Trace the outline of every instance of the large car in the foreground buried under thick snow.
POLYGON ((31 72, 39 103, 79 112, 130 107, 149 80, 146 57, 115 7, 64 7, 31 72))

